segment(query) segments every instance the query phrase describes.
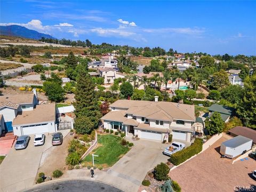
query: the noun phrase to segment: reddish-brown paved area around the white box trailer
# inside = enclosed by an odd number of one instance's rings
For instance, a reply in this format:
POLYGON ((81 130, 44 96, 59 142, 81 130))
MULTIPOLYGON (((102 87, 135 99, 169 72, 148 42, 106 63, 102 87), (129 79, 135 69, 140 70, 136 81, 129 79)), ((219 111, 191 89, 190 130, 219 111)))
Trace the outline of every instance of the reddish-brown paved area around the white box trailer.
POLYGON ((220 158, 220 145, 226 140, 220 138, 209 149, 171 171, 171 179, 184 192, 230 192, 235 191, 235 186, 255 185, 251 172, 256 169, 256 161, 248 158, 232 165, 231 159, 220 158))

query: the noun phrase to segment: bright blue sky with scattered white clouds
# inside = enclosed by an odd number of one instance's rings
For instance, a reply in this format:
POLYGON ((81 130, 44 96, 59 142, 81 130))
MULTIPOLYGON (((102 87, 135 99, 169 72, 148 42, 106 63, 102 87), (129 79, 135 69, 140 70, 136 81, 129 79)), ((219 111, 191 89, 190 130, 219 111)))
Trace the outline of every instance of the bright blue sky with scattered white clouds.
POLYGON ((256 55, 255 1, 1 1, 1 25, 56 38, 256 55))

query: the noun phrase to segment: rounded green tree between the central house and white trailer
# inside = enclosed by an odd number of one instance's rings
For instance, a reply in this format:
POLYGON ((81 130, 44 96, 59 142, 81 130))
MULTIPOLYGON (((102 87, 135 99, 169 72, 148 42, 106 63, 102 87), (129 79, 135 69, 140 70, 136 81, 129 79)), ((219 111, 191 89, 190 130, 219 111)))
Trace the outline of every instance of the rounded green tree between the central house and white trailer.
POLYGON ((222 133, 224 128, 224 122, 220 116, 220 113, 213 112, 212 116, 205 120, 205 128, 209 131, 210 135, 216 133, 222 133))

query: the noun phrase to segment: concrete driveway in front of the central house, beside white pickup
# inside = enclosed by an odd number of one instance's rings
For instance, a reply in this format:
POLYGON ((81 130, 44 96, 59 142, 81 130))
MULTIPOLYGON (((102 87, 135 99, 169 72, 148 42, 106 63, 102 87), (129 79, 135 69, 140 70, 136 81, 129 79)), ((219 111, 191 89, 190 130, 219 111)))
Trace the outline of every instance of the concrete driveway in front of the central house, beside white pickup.
POLYGON ((131 191, 138 191, 147 172, 157 164, 167 162, 169 157, 162 154, 167 145, 159 141, 140 139, 131 142, 134 143, 133 148, 112 166, 107 173, 129 180, 134 184, 134 188, 131 188, 131 191))

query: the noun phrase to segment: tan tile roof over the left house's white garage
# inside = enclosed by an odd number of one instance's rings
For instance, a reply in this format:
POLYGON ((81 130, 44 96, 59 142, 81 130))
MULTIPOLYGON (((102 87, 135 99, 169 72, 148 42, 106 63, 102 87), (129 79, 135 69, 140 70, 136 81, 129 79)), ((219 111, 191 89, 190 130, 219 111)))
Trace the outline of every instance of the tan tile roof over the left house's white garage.
POLYGON ((17 115, 13 120, 13 126, 55 122, 55 110, 55 103, 37 105, 34 110, 22 111, 20 115, 17 115))

